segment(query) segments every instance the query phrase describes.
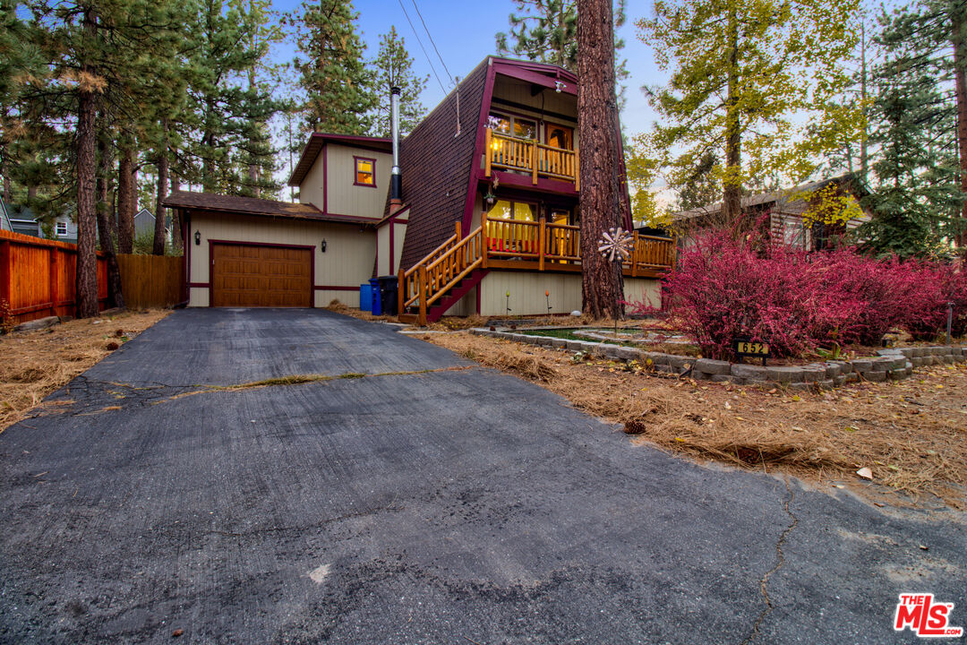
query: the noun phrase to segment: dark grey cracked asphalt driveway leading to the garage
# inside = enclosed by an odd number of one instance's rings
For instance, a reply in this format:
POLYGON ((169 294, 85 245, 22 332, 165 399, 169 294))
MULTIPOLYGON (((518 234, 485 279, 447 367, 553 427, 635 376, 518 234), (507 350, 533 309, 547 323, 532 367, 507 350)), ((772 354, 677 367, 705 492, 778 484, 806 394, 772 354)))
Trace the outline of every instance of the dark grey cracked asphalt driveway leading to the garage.
POLYGON ((0 434, 5 643, 912 643, 906 592, 967 627, 963 513, 632 447, 387 325, 176 311, 51 400, 0 434))

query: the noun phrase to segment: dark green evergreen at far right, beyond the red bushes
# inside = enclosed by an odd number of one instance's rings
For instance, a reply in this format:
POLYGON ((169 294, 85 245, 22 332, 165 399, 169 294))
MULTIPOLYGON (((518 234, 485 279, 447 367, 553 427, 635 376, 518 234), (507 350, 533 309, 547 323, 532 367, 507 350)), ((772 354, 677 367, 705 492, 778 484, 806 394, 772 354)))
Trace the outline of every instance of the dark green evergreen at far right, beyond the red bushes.
POLYGON ((964 203, 951 23, 921 6, 883 15, 881 25, 885 57, 870 106, 873 192, 865 200, 873 219, 859 234, 873 252, 932 255, 959 232, 964 203))

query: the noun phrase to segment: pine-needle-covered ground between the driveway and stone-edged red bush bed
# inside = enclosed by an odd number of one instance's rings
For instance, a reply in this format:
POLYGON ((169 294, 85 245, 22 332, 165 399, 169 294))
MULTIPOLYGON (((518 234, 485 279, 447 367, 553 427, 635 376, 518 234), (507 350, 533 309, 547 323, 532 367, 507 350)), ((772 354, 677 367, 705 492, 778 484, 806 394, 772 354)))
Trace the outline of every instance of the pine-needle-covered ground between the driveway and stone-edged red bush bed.
POLYGON ((638 440, 813 481, 873 480, 963 508, 967 486, 967 368, 918 369, 895 383, 820 394, 663 377, 607 361, 467 333, 427 335, 484 366, 512 372, 576 407, 625 426, 638 440))

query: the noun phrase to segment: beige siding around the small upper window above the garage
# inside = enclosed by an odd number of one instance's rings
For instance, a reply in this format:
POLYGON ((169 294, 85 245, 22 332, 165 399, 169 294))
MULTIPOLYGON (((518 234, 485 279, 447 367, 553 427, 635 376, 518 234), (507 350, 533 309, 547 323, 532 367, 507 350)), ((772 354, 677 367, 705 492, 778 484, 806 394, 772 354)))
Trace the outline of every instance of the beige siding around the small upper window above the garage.
MULTIPOLYGON (((335 215, 352 215, 379 219, 386 209, 386 195, 390 188, 393 156, 386 153, 328 144, 327 172, 329 199, 326 209, 335 215), (354 186, 356 164, 353 157, 376 160, 376 188, 354 186)), ((316 161, 318 163, 319 161, 316 161)), ((318 206, 318 204, 316 204, 318 206)))

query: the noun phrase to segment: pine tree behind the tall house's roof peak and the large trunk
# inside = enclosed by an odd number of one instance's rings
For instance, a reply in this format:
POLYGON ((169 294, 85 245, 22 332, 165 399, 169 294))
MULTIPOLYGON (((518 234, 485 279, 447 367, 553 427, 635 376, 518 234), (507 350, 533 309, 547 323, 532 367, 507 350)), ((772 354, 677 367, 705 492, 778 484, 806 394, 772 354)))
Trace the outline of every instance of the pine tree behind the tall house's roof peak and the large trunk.
MULTIPOLYGON (((625 24, 625 1, 617 0, 612 10, 615 29, 625 24)), ((514 0, 514 4, 519 13, 510 15, 510 34, 499 32, 495 36, 497 51, 576 72, 577 0, 514 0)), ((624 46, 623 40, 615 39, 616 54, 624 46)), ((621 83, 628 76, 628 61, 616 55, 619 109, 625 103, 625 87, 621 83)))

